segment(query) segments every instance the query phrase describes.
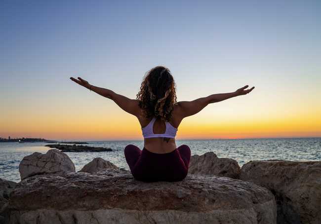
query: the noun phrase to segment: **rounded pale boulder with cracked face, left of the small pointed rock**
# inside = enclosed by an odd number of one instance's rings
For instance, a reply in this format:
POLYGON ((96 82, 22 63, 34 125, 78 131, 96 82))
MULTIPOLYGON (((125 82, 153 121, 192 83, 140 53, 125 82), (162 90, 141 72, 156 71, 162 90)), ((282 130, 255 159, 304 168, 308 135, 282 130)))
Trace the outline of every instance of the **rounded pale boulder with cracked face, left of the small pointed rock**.
POLYGON ((19 164, 19 172, 24 180, 40 174, 75 172, 75 165, 64 152, 50 149, 45 154, 34 152, 25 156, 19 164))

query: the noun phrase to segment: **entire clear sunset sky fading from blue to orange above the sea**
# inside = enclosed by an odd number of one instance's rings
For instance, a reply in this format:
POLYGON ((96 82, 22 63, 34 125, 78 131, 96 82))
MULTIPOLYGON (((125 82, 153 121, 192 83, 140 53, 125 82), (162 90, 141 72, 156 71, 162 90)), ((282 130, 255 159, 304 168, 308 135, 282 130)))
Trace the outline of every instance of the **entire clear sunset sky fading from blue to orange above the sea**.
POLYGON ((0 1, 0 137, 143 140, 135 99, 170 69, 177 101, 234 92, 177 139, 321 137, 321 1, 0 1))

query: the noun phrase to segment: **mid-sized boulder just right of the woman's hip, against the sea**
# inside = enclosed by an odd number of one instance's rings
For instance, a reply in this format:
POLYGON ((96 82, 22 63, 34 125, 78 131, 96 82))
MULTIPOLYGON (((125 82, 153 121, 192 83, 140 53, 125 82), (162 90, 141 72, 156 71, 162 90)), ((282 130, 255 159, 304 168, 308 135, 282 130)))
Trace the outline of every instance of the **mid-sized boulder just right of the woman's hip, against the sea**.
POLYGON ((241 168, 237 161, 230 158, 218 158, 213 152, 191 156, 190 174, 215 175, 238 179, 241 168))

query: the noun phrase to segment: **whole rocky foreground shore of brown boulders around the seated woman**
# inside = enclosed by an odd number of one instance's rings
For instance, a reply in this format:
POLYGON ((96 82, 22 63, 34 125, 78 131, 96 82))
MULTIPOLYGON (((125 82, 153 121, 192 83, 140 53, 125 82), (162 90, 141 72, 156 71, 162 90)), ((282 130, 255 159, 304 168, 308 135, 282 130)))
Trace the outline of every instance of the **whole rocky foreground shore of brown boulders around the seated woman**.
POLYGON ((319 224, 321 162, 191 158, 180 182, 144 183, 95 158, 79 172, 58 149, 19 165, 22 181, 0 180, 0 223, 319 224))

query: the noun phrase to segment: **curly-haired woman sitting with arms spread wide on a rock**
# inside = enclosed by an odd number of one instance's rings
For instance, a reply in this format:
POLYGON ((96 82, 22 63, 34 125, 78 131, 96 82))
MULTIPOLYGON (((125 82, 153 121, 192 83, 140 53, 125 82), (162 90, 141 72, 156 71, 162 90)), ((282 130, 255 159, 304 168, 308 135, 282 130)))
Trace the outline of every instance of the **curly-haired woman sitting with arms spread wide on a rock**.
POLYGON ((124 154, 134 178, 145 182, 181 181, 186 177, 191 150, 187 145, 176 147, 175 143, 178 126, 184 117, 200 112, 208 104, 245 95, 254 89, 246 89, 248 85, 245 85, 231 93, 176 102, 173 76, 162 66, 147 72, 135 100, 91 85, 80 77, 71 79, 113 100, 122 110, 137 117, 142 127, 144 148, 140 150, 134 145, 128 145, 124 154))

